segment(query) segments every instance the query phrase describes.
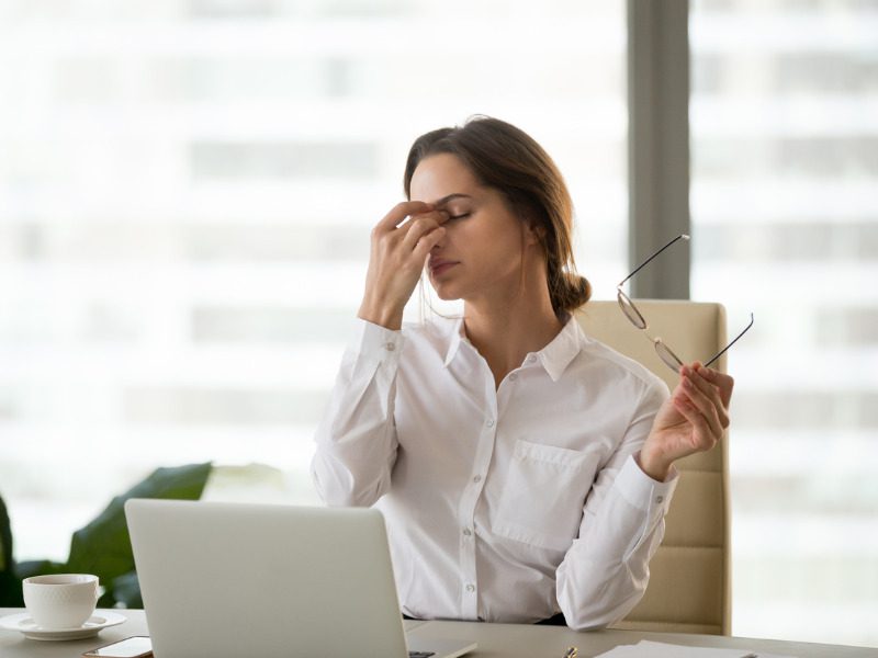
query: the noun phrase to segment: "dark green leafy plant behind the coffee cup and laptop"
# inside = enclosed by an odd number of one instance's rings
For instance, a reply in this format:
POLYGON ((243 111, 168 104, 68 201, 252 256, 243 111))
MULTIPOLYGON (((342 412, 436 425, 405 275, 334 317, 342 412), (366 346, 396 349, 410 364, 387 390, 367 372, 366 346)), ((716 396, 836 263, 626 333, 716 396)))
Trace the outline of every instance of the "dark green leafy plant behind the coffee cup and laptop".
MULTIPOLYGON (((128 498, 199 500, 211 470, 210 462, 157 468, 125 494, 113 498, 91 523, 74 533, 66 563, 47 559, 24 561, 14 565, 8 576, 0 576, 0 605, 23 606, 21 581, 30 576, 94 574, 104 588, 104 594, 98 601, 99 608, 114 608, 117 604, 124 608, 143 608, 128 526, 125 523, 125 501, 128 498)), ((0 510, 0 543, 5 546, 8 538, 10 552, 5 555, 11 558, 12 534, 9 532, 7 537, 3 533, 4 526, 9 531, 5 507, 0 510)))

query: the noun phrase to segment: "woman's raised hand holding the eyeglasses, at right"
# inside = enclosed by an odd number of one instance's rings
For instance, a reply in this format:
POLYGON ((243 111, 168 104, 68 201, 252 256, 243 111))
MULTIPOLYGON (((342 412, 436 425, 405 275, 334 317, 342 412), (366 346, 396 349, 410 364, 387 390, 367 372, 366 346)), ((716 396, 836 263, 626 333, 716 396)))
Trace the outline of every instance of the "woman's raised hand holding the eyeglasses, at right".
POLYGON ((734 379, 698 362, 684 365, 679 374, 640 451, 640 467, 658 481, 677 460, 713 447, 729 427, 734 379))

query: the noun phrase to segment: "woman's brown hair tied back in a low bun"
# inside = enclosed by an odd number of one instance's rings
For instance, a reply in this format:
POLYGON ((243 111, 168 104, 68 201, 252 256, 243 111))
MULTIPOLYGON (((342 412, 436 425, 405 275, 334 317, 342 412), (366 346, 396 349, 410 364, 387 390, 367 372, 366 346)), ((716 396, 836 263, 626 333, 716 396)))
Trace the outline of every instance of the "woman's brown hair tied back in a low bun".
POLYGON ((573 259, 573 202, 552 158, 524 131, 489 116, 418 137, 408 151, 403 186, 412 197, 418 163, 437 154, 460 158, 479 182, 500 192, 522 222, 538 230, 545 253, 549 295, 559 317, 588 302, 592 285, 573 259))

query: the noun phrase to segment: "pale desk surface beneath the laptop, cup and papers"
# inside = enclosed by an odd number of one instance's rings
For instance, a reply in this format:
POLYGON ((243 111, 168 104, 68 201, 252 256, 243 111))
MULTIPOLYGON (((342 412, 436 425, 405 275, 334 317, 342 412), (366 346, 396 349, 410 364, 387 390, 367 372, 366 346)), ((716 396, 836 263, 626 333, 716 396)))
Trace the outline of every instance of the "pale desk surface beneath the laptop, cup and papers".
MULTIPOLYGON (((23 612, 20 609, 0 609, 0 616, 23 612)), ((109 644, 130 635, 148 635, 146 617, 142 610, 113 611, 128 621, 101 632, 97 637, 69 642, 40 642, 26 639, 14 631, 0 629, 2 658, 78 658, 82 651, 109 644)), ((479 624, 470 622, 406 622, 406 629, 423 638, 455 637, 474 639, 479 649, 468 655, 472 658, 561 658, 569 646, 579 648, 579 656, 590 657, 623 644, 641 639, 685 646, 740 648, 747 651, 766 651, 798 658, 876 658, 878 648, 845 647, 809 643, 721 637, 717 635, 686 635, 677 633, 642 633, 635 631, 598 631, 576 633, 561 626, 530 626, 525 624, 479 624)))

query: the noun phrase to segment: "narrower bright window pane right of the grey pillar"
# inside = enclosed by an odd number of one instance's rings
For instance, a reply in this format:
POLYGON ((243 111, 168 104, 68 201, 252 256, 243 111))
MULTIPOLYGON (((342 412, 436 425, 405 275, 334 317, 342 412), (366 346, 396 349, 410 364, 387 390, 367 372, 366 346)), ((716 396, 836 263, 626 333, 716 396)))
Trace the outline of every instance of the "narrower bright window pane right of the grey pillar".
POLYGON ((693 295, 730 352, 733 633, 878 644, 878 5, 691 3, 693 295))

